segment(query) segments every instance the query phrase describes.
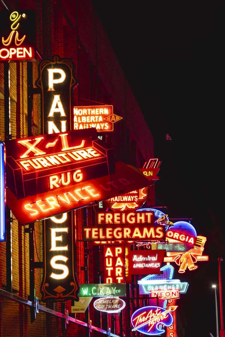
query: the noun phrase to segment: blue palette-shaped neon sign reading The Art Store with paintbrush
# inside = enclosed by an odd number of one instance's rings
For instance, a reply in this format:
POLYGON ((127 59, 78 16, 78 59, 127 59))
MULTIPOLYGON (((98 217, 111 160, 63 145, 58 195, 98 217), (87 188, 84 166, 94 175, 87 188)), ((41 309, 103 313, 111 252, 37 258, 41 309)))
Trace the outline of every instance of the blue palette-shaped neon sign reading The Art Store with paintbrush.
POLYGON ((176 306, 169 309, 147 306, 136 310, 131 316, 132 331, 138 331, 145 335, 161 335, 165 332, 162 325, 169 327, 173 323, 171 312, 176 310, 176 306))

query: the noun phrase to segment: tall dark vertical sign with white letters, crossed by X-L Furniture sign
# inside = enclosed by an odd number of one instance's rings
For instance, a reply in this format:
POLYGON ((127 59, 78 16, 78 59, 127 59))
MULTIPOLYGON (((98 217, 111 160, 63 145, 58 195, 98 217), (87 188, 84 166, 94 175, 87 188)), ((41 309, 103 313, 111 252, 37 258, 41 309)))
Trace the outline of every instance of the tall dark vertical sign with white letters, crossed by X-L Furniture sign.
MULTIPOLYGON (((77 85, 72 60, 56 55, 52 61, 41 61, 38 71, 36 86, 41 90, 43 133, 70 130, 72 89, 77 85)), ((46 219, 43 233, 42 301, 79 301, 72 212, 46 219)))

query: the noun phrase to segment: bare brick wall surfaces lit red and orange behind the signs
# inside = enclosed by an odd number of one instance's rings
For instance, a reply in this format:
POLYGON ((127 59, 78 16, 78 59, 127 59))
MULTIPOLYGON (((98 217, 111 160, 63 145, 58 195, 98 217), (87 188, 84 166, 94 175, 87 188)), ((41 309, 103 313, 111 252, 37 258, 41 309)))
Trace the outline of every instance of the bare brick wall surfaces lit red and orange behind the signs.
MULTIPOLYGON (((115 147, 116 160, 141 167, 144 159, 153 156, 153 139, 144 117, 124 79, 124 74, 109 44, 100 21, 95 17, 89 0, 19 0, 10 1, 12 9, 34 8, 36 12, 36 42, 38 53, 43 58, 52 58, 53 54, 72 58, 75 64, 75 76, 79 81, 78 88, 73 91, 74 105, 112 104, 114 113, 123 117, 114 125, 114 132, 106 137, 107 142, 115 147), (63 7, 62 7, 63 6, 63 7), (65 14, 65 15, 64 15, 65 14), (79 45, 78 45, 79 44, 79 45), (135 153, 136 152, 136 153, 135 153), (141 165, 141 166, 140 166, 141 165)), ((1 6, 1 5, 0 5, 1 6)), ((39 57, 38 57, 39 58, 39 57)), ((33 62, 33 87, 37 79, 38 61, 33 62)), ((12 138, 27 136, 27 63, 10 62, 10 123, 12 138)), ((33 96, 33 134, 41 133, 40 95, 33 96)), ((73 117, 72 117, 73 128, 73 117)), ((4 73, 0 64, 0 137, 4 140, 4 73)), ((154 201, 151 190, 150 203, 154 201)), ((88 208, 88 222, 94 221, 94 212, 88 208)), ((13 214, 12 217, 14 218, 13 214)), ((74 212, 77 239, 82 239, 84 223, 83 210, 74 212)), ((24 232, 28 226, 18 226, 14 219, 12 224, 12 288, 16 295, 28 298, 29 289, 29 236, 24 232)), ((43 261, 42 222, 34 225, 35 261, 43 261)), ((88 243, 89 249, 89 283, 99 282, 103 269, 102 248, 88 243), (99 258, 99 261, 97 259, 99 258)), ((76 242, 77 277, 84 283, 84 243, 76 242)), ((42 269, 35 269, 35 291, 40 299, 40 285, 43 277, 42 269)), ((6 244, 0 243, 0 287, 6 286, 6 244)), ((92 301, 93 302, 93 301, 92 301)), ((92 324, 100 326, 100 313, 90 304, 89 315, 92 324)), ((60 303, 43 303, 60 311, 60 303)), ((66 309, 71 311, 71 301, 66 302, 66 309)), ((73 315, 75 317, 75 314, 73 315)), ((126 314, 122 313, 125 322, 126 314)), ((77 314, 76 318, 84 321, 85 314, 77 314)), ((102 328, 107 330, 107 315, 102 314, 102 328)), ((115 315, 115 333, 119 333, 119 315, 115 315)), ((94 337, 102 336, 92 333, 94 337)), ((61 337, 84 336, 85 328, 69 323, 62 332, 61 319, 39 312, 34 323, 30 323, 30 308, 0 298, 0 337, 61 337)))

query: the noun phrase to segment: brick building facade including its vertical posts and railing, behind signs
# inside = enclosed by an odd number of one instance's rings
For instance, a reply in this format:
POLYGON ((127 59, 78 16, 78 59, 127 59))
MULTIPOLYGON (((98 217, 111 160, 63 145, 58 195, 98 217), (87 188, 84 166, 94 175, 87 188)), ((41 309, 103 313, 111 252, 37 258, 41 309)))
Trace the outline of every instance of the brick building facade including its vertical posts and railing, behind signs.
MULTIPOLYGON (((75 66, 74 106, 112 105, 114 114, 122 117, 114 124, 113 132, 98 133, 108 147, 114 148, 115 161, 141 168, 154 158, 152 135, 89 0, 1 1, 0 10, 6 16, 7 12, 33 10, 36 46, 34 59, 28 61, 13 59, 12 55, 7 61, 7 48, 1 52, 1 141, 48 133, 43 127, 41 94, 36 82, 38 65, 58 55, 71 59, 75 66)), ((13 20, 11 26, 15 30, 13 20)), ((74 129, 73 109, 70 117, 66 130, 74 129)), ((154 185, 149 187, 146 205, 154 206, 154 185)), ((71 213, 78 283, 103 283, 103 246, 82 241, 82 226, 94 222, 94 207, 71 213)), ((119 313, 97 311, 93 300, 85 313, 72 313, 72 300, 41 301, 43 222, 20 225, 7 207, 6 241, 0 242, 0 337, 104 336, 109 335, 109 329, 112 336, 133 336, 131 312, 139 305, 134 279, 126 284, 126 307, 119 313), (35 298, 39 302, 36 314, 35 298)), ((142 296, 142 302, 145 300, 142 296)))

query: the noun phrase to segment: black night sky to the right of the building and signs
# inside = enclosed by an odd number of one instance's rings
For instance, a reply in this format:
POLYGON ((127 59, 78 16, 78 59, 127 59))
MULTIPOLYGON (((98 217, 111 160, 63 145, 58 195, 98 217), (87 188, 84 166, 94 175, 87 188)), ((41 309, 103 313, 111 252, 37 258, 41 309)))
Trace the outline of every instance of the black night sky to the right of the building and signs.
MULTIPOLYGON (((189 282, 179 300, 185 337, 216 336, 211 285, 218 284, 217 257, 225 259, 224 4, 92 3, 154 136, 155 156, 162 160, 157 206, 167 206, 170 218, 191 218, 197 235, 208 238, 204 254, 210 261, 174 275, 189 282)), ((224 286, 225 262, 221 269, 224 286)), ((224 293, 225 286, 223 298, 224 293)))

